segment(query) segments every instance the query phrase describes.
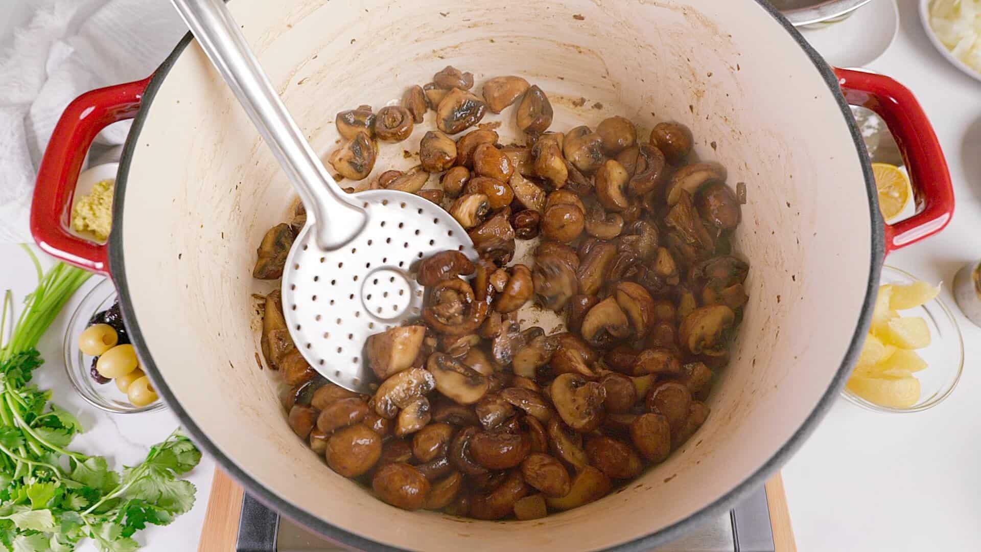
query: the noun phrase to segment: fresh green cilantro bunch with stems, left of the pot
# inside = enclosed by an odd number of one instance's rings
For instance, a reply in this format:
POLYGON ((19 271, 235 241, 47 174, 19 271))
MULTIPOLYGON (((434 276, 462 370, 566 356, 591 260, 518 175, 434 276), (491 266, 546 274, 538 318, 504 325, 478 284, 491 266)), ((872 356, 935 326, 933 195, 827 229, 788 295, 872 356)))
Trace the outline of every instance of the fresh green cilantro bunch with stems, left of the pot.
MULTIPOLYGON (((118 473, 103 457, 68 450, 78 420, 30 378, 43 363, 37 341, 89 274, 62 263, 42 273, 27 252, 40 284, 0 347, 0 543, 13 552, 67 552, 89 537, 104 552, 136 550, 133 533, 170 524, 194 505, 194 485, 179 477, 201 453, 175 431, 118 473)), ((0 336, 11 304, 7 292, 0 336)))

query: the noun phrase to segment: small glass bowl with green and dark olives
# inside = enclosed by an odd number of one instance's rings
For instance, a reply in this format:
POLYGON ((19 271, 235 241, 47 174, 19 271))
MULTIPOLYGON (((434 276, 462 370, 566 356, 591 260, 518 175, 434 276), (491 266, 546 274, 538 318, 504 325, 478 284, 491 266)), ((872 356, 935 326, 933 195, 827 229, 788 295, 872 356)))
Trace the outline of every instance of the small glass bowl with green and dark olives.
POLYGON ((65 332, 65 368, 81 397, 114 414, 167 408, 129 344, 129 332, 108 278, 81 300, 65 332))

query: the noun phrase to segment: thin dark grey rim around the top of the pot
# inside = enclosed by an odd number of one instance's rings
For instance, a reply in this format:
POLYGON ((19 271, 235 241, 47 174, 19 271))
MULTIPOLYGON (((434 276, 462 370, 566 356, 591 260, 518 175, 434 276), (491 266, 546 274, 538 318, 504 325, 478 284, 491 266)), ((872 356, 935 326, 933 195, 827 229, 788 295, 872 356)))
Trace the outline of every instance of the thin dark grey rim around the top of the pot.
MULTIPOLYGON (((817 426, 817 423, 824 417, 825 414, 828 413, 832 405, 838 399, 839 394, 842 388, 845 386, 848 376, 851 373, 853 361, 858 357, 862 343, 864 342, 865 334, 871 323, 875 294, 876 290, 878 289, 880 272, 882 270, 882 265, 885 258, 885 235, 882 217, 879 213, 877 203, 874 201, 876 194, 875 180, 872 175, 872 165, 868 157, 868 152, 865 150, 864 141, 862 140, 861 135, 858 132, 858 128, 855 125, 854 119, 852 118, 851 108, 849 107, 848 102, 846 102, 845 97, 839 88, 838 78, 832 72, 828 64, 807 43, 807 41, 804 40, 804 38, 800 35, 800 32, 794 28, 791 22, 776 8, 774 8, 772 4, 770 4, 767 0, 753 1, 756 2, 756 4, 758 4, 759 7, 769 14, 774 20, 776 20, 778 25, 785 28, 787 32, 791 34, 794 40, 797 41, 800 48, 803 49, 804 53, 814 65, 814 68, 818 71, 818 73, 820 73, 824 83, 827 84, 828 88, 831 90, 832 95, 838 102, 838 106, 841 109, 842 116, 845 118, 845 122, 851 131, 852 141, 854 142, 855 151, 858 155, 858 162, 861 164, 862 172, 864 173, 865 188, 869 198, 869 223, 871 225, 870 234, 872 237, 872 244, 871 258, 869 259, 868 282, 866 283, 865 289, 865 299, 861 306, 858 323, 855 327, 854 335, 852 336, 852 342, 845 353, 844 359, 842 359, 841 365, 839 366, 835 377, 832 379, 831 385, 828 386, 828 389, 821 396, 817 405, 814 407, 814 410, 811 411, 811 413, 808 414, 807 417, 800 423, 800 427, 797 429, 797 431, 794 432, 791 438, 782 447, 780 447, 780 449, 778 449, 769 460, 760 466, 759 469, 752 472, 749 477, 733 487, 729 492, 725 493, 714 502, 704 506, 691 516, 674 524, 662 527, 657 531, 646 534, 645 536, 609 546, 605 548, 605 550, 645 552, 656 546, 668 543, 677 539, 698 524, 701 524, 712 517, 718 517, 722 513, 731 510, 737 502, 744 499, 750 492, 760 487, 773 472, 780 469, 780 467, 783 466, 791 458, 791 456, 797 452, 798 449, 800 449, 800 446, 803 444, 804 440, 811 434, 811 432, 817 426)), ((120 160, 119 175, 116 180, 116 194, 118 198, 125 197, 129 177, 129 165, 132 161, 133 152, 139 138, 139 133, 142 130, 143 124, 146 122, 147 113, 149 112, 149 108, 153 103, 153 99, 155 98, 157 91, 160 89, 161 83, 163 83, 163 81, 167 78, 171 68, 177 63, 178 59, 181 57, 181 53, 183 53, 184 48, 187 47, 191 39, 192 35, 189 32, 185 34, 183 38, 181 38, 181 41, 177 44, 171 54, 166 60, 164 60, 156 72, 154 72, 150 83, 147 85, 146 90, 143 93, 141 107, 133 120, 132 128, 129 131, 129 136, 127 137, 126 144, 124 146, 123 157, 120 160)), ((235 480, 242 483, 242 485, 253 497, 257 498, 260 502, 293 520, 294 522, 302 524, 336 542, 346 546, 355 547, 357 549, 392 551, 403 550, 388 546, 387 544, 376 542, 359 534, 330 524, 329 522, 317 518, 307 511, 293 505, 285 498, 271 492, 262 483, 246 473, 243 469, 238 468, 230 457, 223 453, 208 439, 201 428, 198 427, 190 415, 187 414, 187 412, 181 407, 181 403, 178 401, 173 391, 167 386, 164 379, 160 376, 160 371, 158 370, 152 355, 149 353, 149 349, 147 348, 146 342, 143 339, 142 331, 140 330, 139 321, 136 318, 136 313, 132 308, 131 296, 129 293, 129 282, 126 272, 126 259, 123 248, 123 239, 125 235, 123 229, 124 202, 125 200, 116 200, 113 204, 113 220, 116 222, 109 239, 110 272, 113 275, 113 280, 119 293, 121 300, 120 307, 123 317, 126 320, 127 327, 130 330, 130 340, 139 353, 144 370, 146 371, 147 375, 150 376, 150 379, 152 380, 153 385, 157 389, 159 395, 164 399, 164 401, 166 401, 168 406, 170 406, 173 413, 178 416, 178 419, 181 421, 181 425, 189 434, 191 439, 199 447, 204 449, 205 452, 211 455, 211 457, 215 459, 217 464, 222 469, 229 473, 235 480)), ((275 541, 275 532, 270 533, 270 537, 275 541)), ((271 541, 270 544, 274 544, 274 542, 271 541)))

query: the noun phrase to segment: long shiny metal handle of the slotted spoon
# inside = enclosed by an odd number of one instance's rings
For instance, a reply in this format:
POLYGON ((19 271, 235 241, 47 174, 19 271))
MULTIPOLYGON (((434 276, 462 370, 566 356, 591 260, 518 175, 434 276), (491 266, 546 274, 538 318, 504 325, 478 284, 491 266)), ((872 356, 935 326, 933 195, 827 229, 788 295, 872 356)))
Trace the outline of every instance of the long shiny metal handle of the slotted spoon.
POLYGON ((314 224, 317 245, 340 248, 359 234, 367 214, 340 191, 289 116, 222 0, 172 0, 259 134, 280 162, 314 224))

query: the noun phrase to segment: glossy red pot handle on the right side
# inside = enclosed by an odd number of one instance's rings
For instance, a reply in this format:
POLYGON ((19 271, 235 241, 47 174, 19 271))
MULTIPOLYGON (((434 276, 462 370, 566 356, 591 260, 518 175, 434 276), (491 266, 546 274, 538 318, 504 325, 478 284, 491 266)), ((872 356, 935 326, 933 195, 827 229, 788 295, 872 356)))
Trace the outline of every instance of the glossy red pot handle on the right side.
POLYGON ((916 214, 885 225, 886 254, 933 236, 954 216, 954 187, 940 141, 919 102, 889 77, 836 69, 845 99, 871 109, 886 122, 903 154, 916 197, 916 214))

